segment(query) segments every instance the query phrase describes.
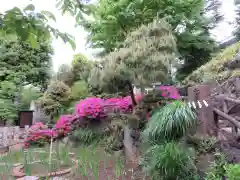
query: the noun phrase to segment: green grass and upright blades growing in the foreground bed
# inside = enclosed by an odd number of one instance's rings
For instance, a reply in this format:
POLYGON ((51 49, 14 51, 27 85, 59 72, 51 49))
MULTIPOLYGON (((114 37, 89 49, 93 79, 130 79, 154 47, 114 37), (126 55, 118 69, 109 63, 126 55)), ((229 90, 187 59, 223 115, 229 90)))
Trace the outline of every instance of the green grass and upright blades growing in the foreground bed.
POLYGON ((64 144, 55 143, 52 151, 51 163, 49 164, 49 146, 45 148, 29 148, 27 151, 9 152, 0 157, 0 176, 10 177, 14 164, 24 165, 26 175, 47 174, 59 169, 72 167, 71 178, 85 176, 99 179, 100 169, 114 164, 113 173, 120 175, 123 169, 122 159, 106 154, 96 144, 69 148, 64 144), (71 155, 72 153, 72 155, 71 155))

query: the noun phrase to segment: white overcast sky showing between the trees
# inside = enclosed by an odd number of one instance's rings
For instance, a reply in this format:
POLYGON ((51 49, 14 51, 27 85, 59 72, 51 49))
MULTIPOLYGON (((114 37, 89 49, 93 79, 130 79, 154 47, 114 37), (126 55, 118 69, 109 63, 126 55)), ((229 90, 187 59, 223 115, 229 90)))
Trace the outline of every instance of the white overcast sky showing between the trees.
MULTIPOLYGON (((224 21, 212 32, 217 41, 222 41, 231 36, 234 21, 234 0, 221 0, 224 14, 224 21)), ((88 58, 93 59, 93 50, 86 48, 86 36, 81 27, 75 27, 75 20, 71 16, 62 15, 56 5, 56 0, 0 0, 0 13, 15 6, 23 8, 28 4, 34 4, 36 11, 47 10, 52 12, 57 21, 50 22, 50 25, 59 29, 61 32, 67 32, 75 37, 76 50, 73 51, 69 44, 65 44, 61 39, 53 38, 52 46, 55 54, 53 55, 53 68, 56 71, 61 64, 70 64, 72 57, 76 53, 83 53, 88 58)))

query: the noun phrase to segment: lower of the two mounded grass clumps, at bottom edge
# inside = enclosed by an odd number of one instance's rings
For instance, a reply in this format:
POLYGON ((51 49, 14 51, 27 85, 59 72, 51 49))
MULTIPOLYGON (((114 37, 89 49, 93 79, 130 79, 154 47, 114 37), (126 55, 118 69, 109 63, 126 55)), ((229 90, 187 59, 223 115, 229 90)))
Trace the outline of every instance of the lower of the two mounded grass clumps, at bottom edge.
POLYGON ((153 180, 194 180, 197 171, 193 155, 181 144, 168 142, 149 148, 142 166, 153 180))

